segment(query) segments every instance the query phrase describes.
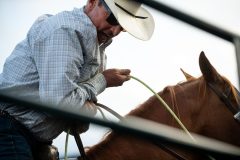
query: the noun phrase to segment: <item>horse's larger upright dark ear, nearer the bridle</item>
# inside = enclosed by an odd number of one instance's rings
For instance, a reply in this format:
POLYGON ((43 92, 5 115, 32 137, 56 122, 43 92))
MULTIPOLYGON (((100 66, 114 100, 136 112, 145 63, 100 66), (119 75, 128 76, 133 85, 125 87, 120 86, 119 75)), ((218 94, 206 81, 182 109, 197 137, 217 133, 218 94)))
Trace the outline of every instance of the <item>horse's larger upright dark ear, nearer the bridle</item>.
POLYGON ((211 65, 204 52, 200 53, 199 56, 199 66, 203 77, 207 82, 216 82, 220 79, 220 75, 216 71, 216 69, 211 65))

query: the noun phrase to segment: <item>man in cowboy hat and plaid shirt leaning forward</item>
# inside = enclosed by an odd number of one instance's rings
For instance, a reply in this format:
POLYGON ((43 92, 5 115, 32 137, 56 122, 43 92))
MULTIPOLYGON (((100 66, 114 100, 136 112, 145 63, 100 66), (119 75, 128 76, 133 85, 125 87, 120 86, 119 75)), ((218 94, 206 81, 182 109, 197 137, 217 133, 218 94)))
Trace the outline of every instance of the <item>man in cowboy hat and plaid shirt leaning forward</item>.
MULTIPOLYGON (((6 60, 0 90, 94 115, 97 95, 121 86, 130 74, 129 69, 105 69, 105 48, 121 31, 148 40, 153 30, 150 13, 131 0, 88 0, 84 8, 41 16, 6 60)), ((0 124, 1 160, 39 158, 39 146, 51 144, 71 126, 48 113, 4 102, 0 124)))

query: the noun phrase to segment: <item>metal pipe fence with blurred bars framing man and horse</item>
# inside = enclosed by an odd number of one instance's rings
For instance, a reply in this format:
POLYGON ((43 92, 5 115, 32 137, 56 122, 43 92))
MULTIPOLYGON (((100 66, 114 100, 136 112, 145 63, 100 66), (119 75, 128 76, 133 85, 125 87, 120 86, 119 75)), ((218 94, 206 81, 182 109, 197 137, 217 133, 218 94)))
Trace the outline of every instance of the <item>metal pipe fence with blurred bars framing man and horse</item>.
MULTIPOLYGON (((214 26, 202 20, 199 20, 195 17, 187 15, 183 12, 180 12, 176 9, 173 9, 169 6, 166 6, 156 0, 138 0, 145 5, 148 5, 160 12, 163 12, 167 15, 170 15, 174 18, 177 18, 183 22, 186 22, 194 27, 202 29, 210 34, 216 35, 219 38, 232 42, 236 48, 236 57, 237 57, 237 67, 240 66, 240 37, 230 31, 222 29, 220 27, 214 26)), ((238 77, 240 75, 238 69, 238 77)), ((239 85, 240 86, 240 85, 239 85)), ((169 129, 166 126, 162 126, 160 124, 156 124, 154 122, 149 122, 143 119, 136 118, 126 118, 124 121, 119 123, 117 122, 109 122, 106 120, 98 119, 96 117, 89 117, 87 114, 79 113, 74 110, 67 110, 68 107, 59 107, 59 106, 51 106, 49 104, 39 104, 36 102, 32 102, 29 100, 19 99, 17 97, 13 97, 7 95, 4 92, 0 91, 0 101, 2 102, 10 102, 16 103, 18 105, 23 105, 26 107, 30 107, 36 110, 48 112, 50 114, 59 116, 65 119, 78 120, 83 122, 90 122, 94 124, 98 124, 101 126, 109 127, 117 132, 124 132, 128 134, 133 134, 134 136, 139 136, 140 138, 145 138, 150 141, 180 146, 191 150, 196 153, 215 155, 217 157, 221 157, 223 159, 232 159, 240 158, 240 148, 236 146, 232 146, 220 141, 208 139, 206 137, 201 137, 199 135, 193 134, 198 143, 191 142, 186 135, 181 134, 181 131, 177 129, 169 129), (142 124, 146 123, 148 125, 146 128, 142 127, 142 124), (163 131, 165 128, 166 130, 163 131), (172 131, 177 131, 177 134, 172 131)))

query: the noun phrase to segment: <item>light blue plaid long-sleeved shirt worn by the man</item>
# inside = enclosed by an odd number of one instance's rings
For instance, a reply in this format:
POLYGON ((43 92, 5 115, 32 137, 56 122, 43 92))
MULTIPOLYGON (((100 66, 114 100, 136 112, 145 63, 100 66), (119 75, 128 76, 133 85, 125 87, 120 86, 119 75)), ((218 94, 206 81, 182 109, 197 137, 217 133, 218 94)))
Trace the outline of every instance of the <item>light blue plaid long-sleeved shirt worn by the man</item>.
MULTIPOLYGON (((7 58, 0 90, 19 97, 81 109, 106 88, 106 45, 99 46, 96 28, 83 8, 43 15, 7 58)), ((64 129, 61 120, 24 106, 0 105, 40 140, 52 140, 64 129)))

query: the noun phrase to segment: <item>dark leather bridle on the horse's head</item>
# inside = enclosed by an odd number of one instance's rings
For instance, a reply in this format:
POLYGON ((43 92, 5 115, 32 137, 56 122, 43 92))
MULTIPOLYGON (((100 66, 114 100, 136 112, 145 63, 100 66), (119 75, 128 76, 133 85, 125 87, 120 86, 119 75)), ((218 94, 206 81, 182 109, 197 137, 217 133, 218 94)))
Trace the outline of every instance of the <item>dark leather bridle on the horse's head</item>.
MULTIPOLYGON (((220 98, 220 100, 225 104, 225 106, 232 112, 234 115, 234 119, 240 123, 240 104, 234 106, 234 104, 229 100, 229 96, 231 93, 231 87, 228 87, 225 92, 219 90, 214 84, 208 82, 208 86, 212 89, 212 91, 220 98)), ((239 91, 235 88, 235 91, 238 94, 238 98, 240 97, 239 91)))

